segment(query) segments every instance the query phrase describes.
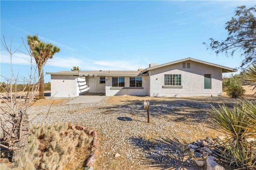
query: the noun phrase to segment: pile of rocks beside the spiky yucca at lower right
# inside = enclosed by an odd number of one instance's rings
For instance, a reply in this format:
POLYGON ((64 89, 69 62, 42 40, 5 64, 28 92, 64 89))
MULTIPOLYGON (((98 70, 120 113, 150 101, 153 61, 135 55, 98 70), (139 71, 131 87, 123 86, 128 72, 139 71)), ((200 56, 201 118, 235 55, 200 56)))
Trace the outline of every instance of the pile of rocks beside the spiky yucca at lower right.
POLYGON ((207 170, 213 170, 218 168, 218 170, 224 170, 222 166, 215 162, 218 158, 218 154, 214 149, 218 146, 218 143, 212 140, 210 137, 204 139, 199 139, 192 144, 188 144, 190 152, 195 156, 195 162, 198 166, 206 166, 207 170))

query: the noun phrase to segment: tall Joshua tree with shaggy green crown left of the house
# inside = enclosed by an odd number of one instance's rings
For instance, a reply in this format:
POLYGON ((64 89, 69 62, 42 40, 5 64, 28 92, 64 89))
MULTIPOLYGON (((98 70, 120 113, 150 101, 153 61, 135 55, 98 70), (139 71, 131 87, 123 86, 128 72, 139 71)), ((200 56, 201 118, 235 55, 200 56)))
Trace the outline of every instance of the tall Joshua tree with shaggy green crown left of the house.
POLYGON ((44 99, 44 65, 55 53, 60 52, 60 48, 51 43, 44 43, 38 39, 38 36, 27 36, 28 45, 36 61, 39 73, 39 99, 44 99), (42 75, 40 75, 42 74, 42 75))

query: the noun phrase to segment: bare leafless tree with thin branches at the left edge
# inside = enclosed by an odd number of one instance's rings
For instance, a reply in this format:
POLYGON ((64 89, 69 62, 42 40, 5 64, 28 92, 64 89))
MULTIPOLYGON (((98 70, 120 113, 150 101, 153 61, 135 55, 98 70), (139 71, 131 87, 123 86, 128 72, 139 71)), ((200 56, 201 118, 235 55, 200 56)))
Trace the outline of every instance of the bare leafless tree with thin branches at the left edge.
POLYGON ((6 44, 5 38, 1 39, 4 49, 10 55, 10 69, 11 77, 8 80, 9 90, 4 90, 0 95, 0 99, 4 104, 1 104, 0 109, 0 126, 2 129, 3 138, 0 141, 0 148, 7 149, 12 152, 12 161, 16 161, 25 151, 28 145, 28 135, 30 130, 30 121, 28 119, 27 109, 31 106, 31 102, 38 93, 39 83, 38 80, 43 76, 42 70, 37 72, 37 65, 34 63, 32 49, 27 48, 24 40, 22 39, 22 46, 26 48, 26 53, 15 49, 12 51, 12 41, 10 46, 6 44), (22 76, 22 83, 24 88, 18 91, 17 85, 19 83, 19 76, 14 75, 12 66, 12 57, 14 53, 20 51, 30 56, 30 70, 28 78, 22 76))

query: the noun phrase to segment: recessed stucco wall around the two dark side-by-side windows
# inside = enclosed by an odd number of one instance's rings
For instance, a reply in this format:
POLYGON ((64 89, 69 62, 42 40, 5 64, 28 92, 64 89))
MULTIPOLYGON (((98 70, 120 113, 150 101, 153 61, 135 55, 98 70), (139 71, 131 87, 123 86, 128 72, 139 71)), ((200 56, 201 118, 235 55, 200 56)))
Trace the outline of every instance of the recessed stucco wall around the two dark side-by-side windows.
MULTIPOLYGON (((148 95, 148 77, 142 76, 143 89, 111 89, 111 87, 112 87, 112 77, 106 76, 106 96, 114 96, 114 95, 116 96, 118 95, 147 96, 148 95)), ((124 77, 124 87, 130 87, 130 77, 124 77)))

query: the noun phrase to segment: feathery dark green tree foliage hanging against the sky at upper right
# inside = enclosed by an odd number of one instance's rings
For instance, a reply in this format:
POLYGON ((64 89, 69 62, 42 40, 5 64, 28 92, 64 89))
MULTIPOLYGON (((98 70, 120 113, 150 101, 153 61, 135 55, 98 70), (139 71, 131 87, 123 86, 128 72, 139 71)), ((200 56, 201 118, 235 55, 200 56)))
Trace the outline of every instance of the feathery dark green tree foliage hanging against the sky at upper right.
POLYGON ((243 67, 247 63, 256 62, 256 6, 246 8, 239 6, 235 16, 226 22, 228 37, 224 41, 217 41, 210 38, 208 48, 218 53, 225 53, 226 56, 233 56, 236 51, 242 52, 245 58, 241 63, 243 67))

